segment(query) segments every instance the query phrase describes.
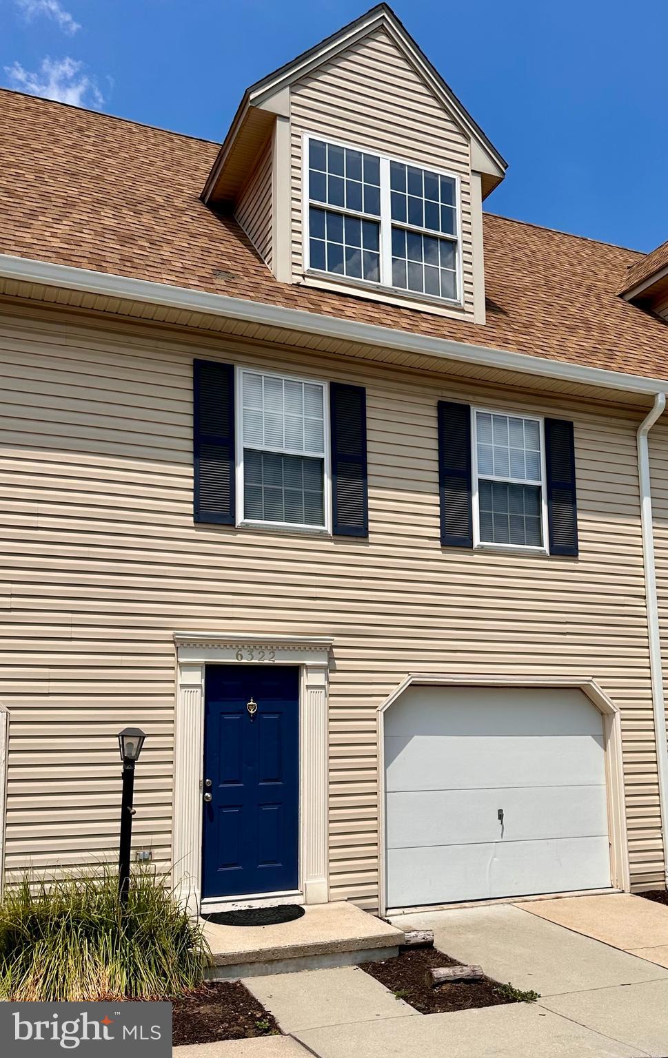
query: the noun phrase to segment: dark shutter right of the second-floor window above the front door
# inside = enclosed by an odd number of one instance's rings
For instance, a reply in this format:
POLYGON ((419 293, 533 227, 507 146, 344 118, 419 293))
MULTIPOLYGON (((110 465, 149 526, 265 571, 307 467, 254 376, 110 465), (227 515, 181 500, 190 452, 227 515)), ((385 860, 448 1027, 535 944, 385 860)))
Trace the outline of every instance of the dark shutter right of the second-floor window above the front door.
POLYGON ((332 531, 368 536, 366 390, 329 384, 332 531))

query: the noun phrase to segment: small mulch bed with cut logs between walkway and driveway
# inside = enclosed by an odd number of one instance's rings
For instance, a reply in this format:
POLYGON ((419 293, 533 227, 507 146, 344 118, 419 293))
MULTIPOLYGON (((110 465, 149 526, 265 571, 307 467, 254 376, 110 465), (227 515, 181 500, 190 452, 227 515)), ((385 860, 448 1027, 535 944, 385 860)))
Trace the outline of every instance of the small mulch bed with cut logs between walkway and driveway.
POLYGON ((419 1010, 420 1014, 446 1014, 450 1010, 470 1010, 479 1006, 500 1006, 516 1000, 499 991, 499 982, 491 978, 461 984, 427 984, 427 971, 437 966, 456 966, 455 959, 444 955, 435 948, 412 948, 400 951, 395 959, 379 963, 362 963, 360 969, 394 992, 397 999, 419 1010))

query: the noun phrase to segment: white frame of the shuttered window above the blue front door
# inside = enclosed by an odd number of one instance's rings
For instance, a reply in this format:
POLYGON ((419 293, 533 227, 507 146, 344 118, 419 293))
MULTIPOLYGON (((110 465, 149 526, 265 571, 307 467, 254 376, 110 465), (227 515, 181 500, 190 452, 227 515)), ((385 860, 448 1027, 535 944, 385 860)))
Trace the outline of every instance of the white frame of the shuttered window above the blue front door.
MULTIPOLYGON (((238 364, 235 369, 234 385, 234 431, 235 431, 235 495, 236 495, 236 526, 237 528, 258 528, 276 529, 287 532, 308 532, 321 535, 331 535, 331 443, 329 433, 329 383, 323 379, 314 379, 306 376, 291 375, 287 371, 268 371, 264 367, 252 367, 238 364), (265 522, 259 518, 243 517, 243 375, 261 375, 273 379, 289 379, 290 382, 306 382, 323 387, 323 422, 324 422, 324 459, 323 459, 323 484, 324 484, 324 514, 325 523, 322 526, 305 525, 301 522, 265 522)), ((253 445, 249 445, 253 448, 253 445)), ((320 459, 308 452, 292 452, 286 449, 274 449, 263 446, 256 449, 258 452, 277 452, 282 455, 296 455, 306 458, 320 459)))

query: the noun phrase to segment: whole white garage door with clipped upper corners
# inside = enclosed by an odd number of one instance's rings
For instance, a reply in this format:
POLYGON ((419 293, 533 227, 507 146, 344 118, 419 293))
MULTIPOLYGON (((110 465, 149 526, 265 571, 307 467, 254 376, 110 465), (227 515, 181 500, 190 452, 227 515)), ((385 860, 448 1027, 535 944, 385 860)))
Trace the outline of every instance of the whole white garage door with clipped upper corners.
POLYGON ((384 732, 387 907, 610 886, 602 717, 581 691, 410 687, 384 732))

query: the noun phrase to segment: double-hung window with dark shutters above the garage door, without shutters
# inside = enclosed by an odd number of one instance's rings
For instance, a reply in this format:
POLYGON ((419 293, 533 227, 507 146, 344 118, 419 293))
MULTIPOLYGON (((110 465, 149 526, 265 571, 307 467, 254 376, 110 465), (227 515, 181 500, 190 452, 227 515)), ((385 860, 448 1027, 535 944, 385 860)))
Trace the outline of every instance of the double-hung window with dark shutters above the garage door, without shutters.
POLYGON ((476 545, 546 550, 541 419, 473 411, 476 545))

